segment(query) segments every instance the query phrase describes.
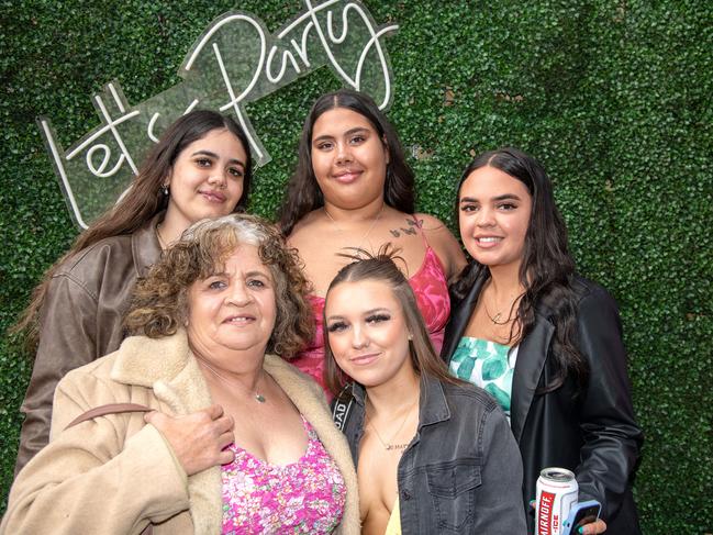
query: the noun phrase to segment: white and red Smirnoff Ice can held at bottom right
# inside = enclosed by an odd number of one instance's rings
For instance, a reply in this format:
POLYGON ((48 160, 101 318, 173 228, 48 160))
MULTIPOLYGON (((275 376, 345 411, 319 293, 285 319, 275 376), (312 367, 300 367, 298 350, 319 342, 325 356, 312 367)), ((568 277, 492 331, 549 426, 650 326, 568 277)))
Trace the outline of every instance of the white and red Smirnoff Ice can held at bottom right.
POLYGON ((577 503, 579 486, 575 475, 565 468, 545 468, 537 479, 535 533, 560 535, 562 522, 577 503))

